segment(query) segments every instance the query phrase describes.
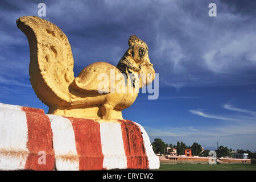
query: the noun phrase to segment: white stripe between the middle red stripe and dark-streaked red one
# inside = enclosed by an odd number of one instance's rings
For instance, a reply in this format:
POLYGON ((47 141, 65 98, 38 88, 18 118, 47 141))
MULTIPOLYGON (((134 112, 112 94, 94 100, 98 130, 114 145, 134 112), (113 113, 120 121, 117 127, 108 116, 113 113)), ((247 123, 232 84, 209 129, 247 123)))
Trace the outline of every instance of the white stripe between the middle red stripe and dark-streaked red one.
POLYGON ((127 159, 123 147, 123 137, 120 123, 100 123, 101 146, 104 155, 103 167, 106 169, 125 169, 127 159))

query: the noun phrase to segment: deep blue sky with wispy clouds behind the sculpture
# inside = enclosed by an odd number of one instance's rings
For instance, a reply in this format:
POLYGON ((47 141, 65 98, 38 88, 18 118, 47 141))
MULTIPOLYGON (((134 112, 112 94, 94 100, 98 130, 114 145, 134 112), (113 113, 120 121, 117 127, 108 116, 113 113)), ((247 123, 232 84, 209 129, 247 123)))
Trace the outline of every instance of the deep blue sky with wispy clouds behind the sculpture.
POLYGON ((256 151, 255 1, 1 1, 0 102, 48 107, 31 88, 26 36, 16 19, 38 15, 68 36, 75 76, 87 65, 117 65, 137 35, 159 73, 159 98, 139 94, 123 118, 140 123, 151 141, 178 140, 256 151), (208 16, 208 5, 217 16, 208 16))

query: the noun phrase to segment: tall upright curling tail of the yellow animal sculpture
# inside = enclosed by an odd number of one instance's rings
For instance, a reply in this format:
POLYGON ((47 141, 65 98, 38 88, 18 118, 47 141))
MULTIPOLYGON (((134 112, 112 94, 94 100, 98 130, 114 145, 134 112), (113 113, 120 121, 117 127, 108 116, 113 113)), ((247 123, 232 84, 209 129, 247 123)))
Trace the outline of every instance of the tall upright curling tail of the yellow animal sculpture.
POLYGON ((67 104, 68 86, 74 80, 67 36, 55 24, 37 16, 22 16, 16 23, 30 45, 30 81, 36 95, 47 105, 67 104))

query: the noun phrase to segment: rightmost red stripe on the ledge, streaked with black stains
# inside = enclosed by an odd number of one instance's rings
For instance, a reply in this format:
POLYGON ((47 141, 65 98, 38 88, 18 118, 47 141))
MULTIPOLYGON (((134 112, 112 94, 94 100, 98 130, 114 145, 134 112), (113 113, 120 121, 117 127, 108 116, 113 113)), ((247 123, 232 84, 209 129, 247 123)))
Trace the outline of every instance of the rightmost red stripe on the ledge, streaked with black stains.
POLYGON ((122 126, 127 168, 148 169, 148 159, 141 129, 129 120, 119 120, 119 122, 122 126))

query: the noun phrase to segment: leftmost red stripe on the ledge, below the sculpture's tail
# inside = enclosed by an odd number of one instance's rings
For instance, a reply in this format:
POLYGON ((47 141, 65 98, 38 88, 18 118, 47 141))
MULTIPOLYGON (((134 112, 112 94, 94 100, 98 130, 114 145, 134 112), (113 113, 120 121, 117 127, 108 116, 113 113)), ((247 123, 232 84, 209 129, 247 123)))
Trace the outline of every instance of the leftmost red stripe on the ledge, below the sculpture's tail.
POLYGON ((55 156, 49 118, 46 114, 35 112, 34 108, 22 107, 22 110, 25 111, 27 117, 27 148, 30 151, 25 169, 53 170, 55 167, 55 156))

